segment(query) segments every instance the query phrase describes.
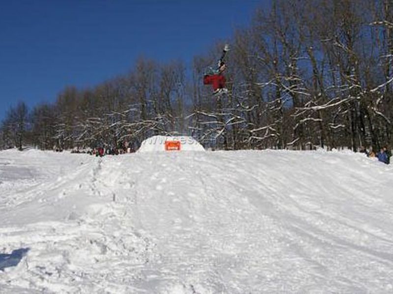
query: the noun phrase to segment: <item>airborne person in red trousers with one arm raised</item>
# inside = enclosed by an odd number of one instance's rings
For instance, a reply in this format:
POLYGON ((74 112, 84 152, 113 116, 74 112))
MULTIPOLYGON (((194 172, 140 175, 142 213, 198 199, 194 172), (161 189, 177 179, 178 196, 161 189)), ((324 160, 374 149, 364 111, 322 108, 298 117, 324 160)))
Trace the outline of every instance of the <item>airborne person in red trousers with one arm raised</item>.
POLYGON ((223 75, 226 69, 224 58, 228 51, 229 45, 225 44, 217 69, 209 67, 208 72, 203 76, 203 84, 212 85, 213 94, 228 93, 228 89, 225 88, 225 76, 223 75))

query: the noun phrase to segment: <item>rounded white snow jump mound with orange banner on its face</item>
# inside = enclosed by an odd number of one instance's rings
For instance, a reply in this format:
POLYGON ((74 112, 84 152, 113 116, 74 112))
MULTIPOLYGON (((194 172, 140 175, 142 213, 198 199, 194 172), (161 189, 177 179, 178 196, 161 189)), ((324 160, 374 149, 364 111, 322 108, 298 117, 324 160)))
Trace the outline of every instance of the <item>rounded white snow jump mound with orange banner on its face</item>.
POLYGON ((204 151, 197 140, 189 136, 153 136, 144 140, 138 152, 204 151))

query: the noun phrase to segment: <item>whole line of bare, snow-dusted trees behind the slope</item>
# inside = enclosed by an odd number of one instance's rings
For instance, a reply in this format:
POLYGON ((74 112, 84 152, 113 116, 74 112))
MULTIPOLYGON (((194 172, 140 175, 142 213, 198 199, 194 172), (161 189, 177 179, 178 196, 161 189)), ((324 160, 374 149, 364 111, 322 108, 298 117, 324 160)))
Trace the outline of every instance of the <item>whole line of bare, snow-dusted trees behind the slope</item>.
POLYGON ((181 62, 140 59, 94 89, 69 87, 29 114, 23 103, 11 109, 0 144, 116 146, 188 134, 220 149, 392 146, 392 0, 273 0, 230 43, 227 96, 202 83, 223 44, 195 57, 189 78, 181 62))

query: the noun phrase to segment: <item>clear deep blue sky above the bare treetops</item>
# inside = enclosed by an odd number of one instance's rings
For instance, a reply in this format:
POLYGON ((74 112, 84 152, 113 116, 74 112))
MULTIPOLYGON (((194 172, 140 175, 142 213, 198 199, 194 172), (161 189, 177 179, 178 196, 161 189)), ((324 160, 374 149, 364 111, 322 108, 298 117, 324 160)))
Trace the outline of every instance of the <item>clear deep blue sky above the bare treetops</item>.
POLYGON ((0 120, 18 100, 127 73, 143 55, 192 58, 247 26, 270 0, 9 0, 0 8, 0 120))

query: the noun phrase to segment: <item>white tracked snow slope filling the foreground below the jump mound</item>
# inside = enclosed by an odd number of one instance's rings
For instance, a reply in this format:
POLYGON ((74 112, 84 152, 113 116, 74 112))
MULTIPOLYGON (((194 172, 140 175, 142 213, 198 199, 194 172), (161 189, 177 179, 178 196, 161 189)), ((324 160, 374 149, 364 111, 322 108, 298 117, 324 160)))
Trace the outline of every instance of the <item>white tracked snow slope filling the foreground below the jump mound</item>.
POLYGON ((0 293, 393 293, 393 169, 324 151, 0 152, 0 293), (8 256, 8 255, 7 255, 8 256))

